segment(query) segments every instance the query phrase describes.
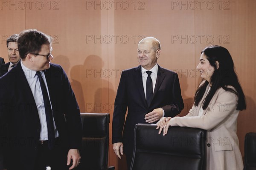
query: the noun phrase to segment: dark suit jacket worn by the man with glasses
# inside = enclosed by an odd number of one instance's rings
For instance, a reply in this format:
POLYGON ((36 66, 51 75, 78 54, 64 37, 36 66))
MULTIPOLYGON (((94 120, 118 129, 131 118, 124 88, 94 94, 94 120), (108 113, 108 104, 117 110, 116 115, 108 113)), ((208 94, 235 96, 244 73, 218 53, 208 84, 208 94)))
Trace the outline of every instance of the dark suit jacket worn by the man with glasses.
MULTIPOLYGON (((45 76, 61 144, 67 149, 79 149, 81 116, 67 75, 61 66, 50 64, 45 76)), ((3 166, 8 170, 32 170, 41 125, 20 62, 0 78, 0 86, 0 158, 3 166)))

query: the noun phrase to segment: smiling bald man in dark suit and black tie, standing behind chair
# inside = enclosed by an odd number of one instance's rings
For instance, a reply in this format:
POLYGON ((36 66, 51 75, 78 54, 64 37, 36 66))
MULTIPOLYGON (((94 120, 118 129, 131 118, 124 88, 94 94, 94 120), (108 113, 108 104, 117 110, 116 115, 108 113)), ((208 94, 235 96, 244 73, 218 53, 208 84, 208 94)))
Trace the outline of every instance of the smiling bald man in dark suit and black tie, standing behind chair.
POLYGON ((128 169, 133 154, 135 125, 156 123, 163 116, 174 117, 184 107, 177 74, 157 64, 160 53, 159 40, 154 37, 141 40, 137 56, 140 66, 123 71, 117 89, 112 143, 119 158, 120 153, 125 153, 128 169))

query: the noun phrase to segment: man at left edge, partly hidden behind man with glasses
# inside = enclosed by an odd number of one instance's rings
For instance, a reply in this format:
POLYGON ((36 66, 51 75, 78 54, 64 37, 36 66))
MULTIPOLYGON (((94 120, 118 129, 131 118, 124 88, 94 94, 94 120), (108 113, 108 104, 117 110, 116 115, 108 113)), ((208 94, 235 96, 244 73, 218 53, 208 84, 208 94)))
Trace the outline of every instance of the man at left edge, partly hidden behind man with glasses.
POLYGON ((9 72, 20 61, 20 54, 18 50, 17 40, 18 40, 17 34, 11 35, 6 40, 8 58, 10 62, 6 63, 3 66, 3 68, 1 68, 1 75, 4 75, 6 72, 9 72))

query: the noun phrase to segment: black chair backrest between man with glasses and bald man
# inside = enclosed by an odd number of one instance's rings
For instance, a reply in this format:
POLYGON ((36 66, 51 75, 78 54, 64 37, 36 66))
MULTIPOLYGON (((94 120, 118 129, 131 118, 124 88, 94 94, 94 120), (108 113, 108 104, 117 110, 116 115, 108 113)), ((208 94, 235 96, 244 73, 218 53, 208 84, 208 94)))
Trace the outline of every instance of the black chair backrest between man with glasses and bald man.
POLYGON ((81 170, 105 170, 108 166, 108 113, 81 113, 83 138, 81 170))

